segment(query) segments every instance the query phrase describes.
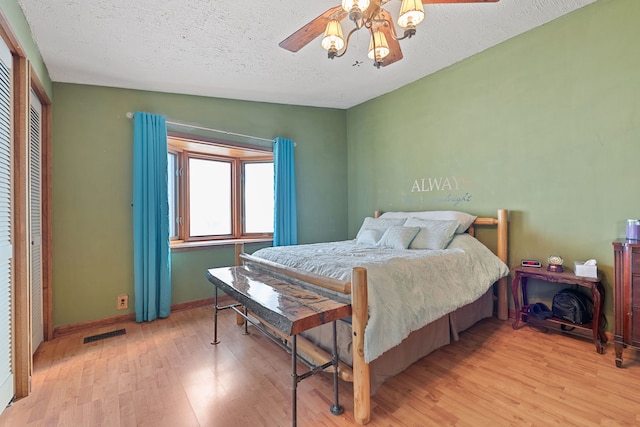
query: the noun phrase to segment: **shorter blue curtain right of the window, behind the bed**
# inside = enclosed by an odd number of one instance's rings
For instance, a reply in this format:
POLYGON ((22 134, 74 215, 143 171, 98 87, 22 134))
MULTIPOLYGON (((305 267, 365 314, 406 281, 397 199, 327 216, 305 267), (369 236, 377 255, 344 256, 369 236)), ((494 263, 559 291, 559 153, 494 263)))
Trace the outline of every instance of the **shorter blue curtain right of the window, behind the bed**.
POLYGON ((273 143, 275 170, 273 246, 298 243, 296 169, 293 151, 294 143, 290 139, 276 138, 273 143))

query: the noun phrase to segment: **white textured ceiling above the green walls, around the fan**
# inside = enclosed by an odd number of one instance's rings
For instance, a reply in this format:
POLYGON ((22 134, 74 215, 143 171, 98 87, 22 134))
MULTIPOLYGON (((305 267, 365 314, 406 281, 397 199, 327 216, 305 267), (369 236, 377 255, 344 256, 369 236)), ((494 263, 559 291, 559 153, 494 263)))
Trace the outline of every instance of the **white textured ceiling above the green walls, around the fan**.
MULTIPOLYGON (((18 3, 55 82, 349 108, 594 1, 425 5, 416 36, 400 42, 404 59, 379 70, 364 31, 334 60, 320 38, 297 53, 278 46, 340 0, 18 3)), ((385 7, 395 17, 400 1, 385 7)))

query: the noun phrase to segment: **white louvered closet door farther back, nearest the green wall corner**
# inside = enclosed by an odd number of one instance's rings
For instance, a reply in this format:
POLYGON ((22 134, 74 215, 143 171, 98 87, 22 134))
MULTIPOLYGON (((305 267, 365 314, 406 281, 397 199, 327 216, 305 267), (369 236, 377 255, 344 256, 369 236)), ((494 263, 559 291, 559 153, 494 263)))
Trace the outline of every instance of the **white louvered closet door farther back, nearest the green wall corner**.
POLYGON ((44 340, 42 317, 42 104, 31 91, 29 116, 29 281, 31 283, 32 349, 44 340))

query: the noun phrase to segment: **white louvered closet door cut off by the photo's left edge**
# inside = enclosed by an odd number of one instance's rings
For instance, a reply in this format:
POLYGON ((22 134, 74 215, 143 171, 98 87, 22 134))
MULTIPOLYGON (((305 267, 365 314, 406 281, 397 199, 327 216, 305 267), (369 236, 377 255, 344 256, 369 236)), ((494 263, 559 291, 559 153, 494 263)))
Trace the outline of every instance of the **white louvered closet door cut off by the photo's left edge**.
POLYGON ((0 413, 13 399, 11 64, 0 38, 0 413))

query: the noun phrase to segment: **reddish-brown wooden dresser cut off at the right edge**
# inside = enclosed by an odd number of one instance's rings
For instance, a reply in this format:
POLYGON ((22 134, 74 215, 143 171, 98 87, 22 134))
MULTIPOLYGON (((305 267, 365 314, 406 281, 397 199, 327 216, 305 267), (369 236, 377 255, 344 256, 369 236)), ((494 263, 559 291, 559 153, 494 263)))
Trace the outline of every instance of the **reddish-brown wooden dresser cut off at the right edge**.
POLYGON ((613 242, 614 339, 616 366, 622 367, 622 349, 640 349, 640 240, 613 242))

